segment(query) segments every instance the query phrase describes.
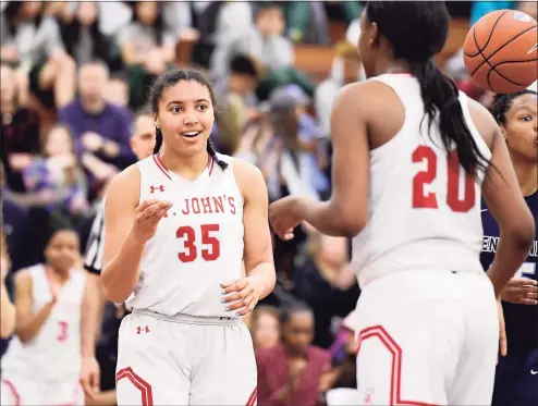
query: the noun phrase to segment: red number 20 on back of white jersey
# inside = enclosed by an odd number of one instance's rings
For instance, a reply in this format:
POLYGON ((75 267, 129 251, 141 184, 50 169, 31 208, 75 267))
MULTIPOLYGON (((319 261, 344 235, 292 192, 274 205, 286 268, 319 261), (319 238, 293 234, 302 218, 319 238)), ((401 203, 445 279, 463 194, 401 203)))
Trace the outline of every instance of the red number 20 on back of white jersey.
MULTIPOLYGON (((437 177, 437 155, 430 147, 419 146, 413 152, 413 162, 426 161, 426 170, 418 172, 413 179, 413 208, 415 209, 437 209, 438 201, 435 193, 426 194, 425 185, 431 184, 437 177)), ((475 179, 473 175, 465 173, 465 188, 463 197, 460 198, 460 171, 463 171, 457 157, 457 151, 453 150, 448 158, 448 190, 447 205, 452 211, 469 211, 476 202, 475 179)))

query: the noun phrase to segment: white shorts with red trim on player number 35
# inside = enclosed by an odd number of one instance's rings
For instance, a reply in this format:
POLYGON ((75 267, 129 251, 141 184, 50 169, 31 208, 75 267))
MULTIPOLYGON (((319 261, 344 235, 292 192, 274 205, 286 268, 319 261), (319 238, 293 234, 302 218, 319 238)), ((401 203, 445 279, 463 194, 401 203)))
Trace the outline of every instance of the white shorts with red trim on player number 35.
POLYGON ((119 406, 256 404, 257 369, 242 319, 134 311, 120 328, 119 406))

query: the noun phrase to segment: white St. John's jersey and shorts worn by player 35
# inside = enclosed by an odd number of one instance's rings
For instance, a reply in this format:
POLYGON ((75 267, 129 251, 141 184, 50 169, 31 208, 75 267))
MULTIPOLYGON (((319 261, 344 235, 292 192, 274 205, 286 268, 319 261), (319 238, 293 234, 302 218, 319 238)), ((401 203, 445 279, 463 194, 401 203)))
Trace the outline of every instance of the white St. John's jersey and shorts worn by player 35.
POLYGON ((159 156, 137 163, 139 201, 172 201, 146 243, 140 278, 120 328, 119 405, 254 405, 257 371, 248 329, 225 310, 221 283, 242 276, 243 198, 232 159, 195 181, 159 156))

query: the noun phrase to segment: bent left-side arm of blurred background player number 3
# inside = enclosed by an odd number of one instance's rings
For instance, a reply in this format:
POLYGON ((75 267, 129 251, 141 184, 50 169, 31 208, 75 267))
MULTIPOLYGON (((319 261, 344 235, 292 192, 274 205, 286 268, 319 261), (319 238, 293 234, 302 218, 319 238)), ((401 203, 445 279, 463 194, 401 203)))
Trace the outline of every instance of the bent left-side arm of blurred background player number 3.
POLYGON ((15 274, 14 281, 16 308, 15 334, 23 343, 27 343, 34 340, 42 324, 49 318, 57 298, 52 297, 52 300, 45 304, 36 313, 33 313, 32 275, 27 271, 19 271, 15 274))

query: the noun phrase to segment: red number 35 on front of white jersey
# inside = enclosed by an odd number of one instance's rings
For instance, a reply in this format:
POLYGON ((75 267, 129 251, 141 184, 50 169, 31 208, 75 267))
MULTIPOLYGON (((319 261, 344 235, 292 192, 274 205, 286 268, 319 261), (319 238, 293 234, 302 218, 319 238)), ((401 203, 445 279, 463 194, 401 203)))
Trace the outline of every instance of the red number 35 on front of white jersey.
MULTIPOLYGON (((220 230, 219 224, 201 224, 201 258, 206 261, 215 261, 220 257, 220 242, 210 233, 220 230)), ((182 262, 192 262, 198 258, 198 247, 196 245, 196 231, 189 225, 182 225, 175 232, 178 238, 183 238, 185 250, 178 254, 182 262)))

